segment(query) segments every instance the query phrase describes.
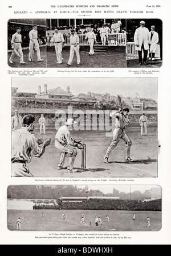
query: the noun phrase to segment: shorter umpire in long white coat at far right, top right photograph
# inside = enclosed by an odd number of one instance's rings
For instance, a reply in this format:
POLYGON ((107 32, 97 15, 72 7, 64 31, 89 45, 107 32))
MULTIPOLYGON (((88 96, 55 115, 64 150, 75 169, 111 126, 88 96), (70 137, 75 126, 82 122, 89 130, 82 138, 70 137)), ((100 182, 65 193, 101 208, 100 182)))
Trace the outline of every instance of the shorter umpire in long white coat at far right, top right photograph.
POLYGON ((155 53, 158 44, 158 33, 155 30, 155 26, 151 26, 151 31, 149 32, 150 44, 149 44, 149 61, 155 61, 155 53))

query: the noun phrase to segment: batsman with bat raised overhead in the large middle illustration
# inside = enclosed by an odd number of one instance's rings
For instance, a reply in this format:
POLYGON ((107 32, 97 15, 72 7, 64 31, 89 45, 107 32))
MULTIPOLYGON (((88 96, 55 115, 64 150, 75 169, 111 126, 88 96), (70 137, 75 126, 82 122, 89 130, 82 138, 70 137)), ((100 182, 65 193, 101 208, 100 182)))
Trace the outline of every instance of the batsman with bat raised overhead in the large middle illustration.
POLYGON ((130 158, 130 150, 131 150, 131 139, 128 138, 127 134, 125 133, 125 128, 129 125, 130 121, 128 118, 129 109, 127 107, 122 107, 122 102, 120 95, 117 95, 117 100, 119 103, 119 111, 115 114, 110 114, 111 117, 116 117, 116 128, 113 131, 113 139, 111 144, 109 145, 107 152, 104 156, 104 163, 108 163, 109 155, 111 154, 114 147, 117 146, 117 143, 122 139, 126 145, 126 153, 125 153, 125 161, 131 162, 132 159, 130 158))

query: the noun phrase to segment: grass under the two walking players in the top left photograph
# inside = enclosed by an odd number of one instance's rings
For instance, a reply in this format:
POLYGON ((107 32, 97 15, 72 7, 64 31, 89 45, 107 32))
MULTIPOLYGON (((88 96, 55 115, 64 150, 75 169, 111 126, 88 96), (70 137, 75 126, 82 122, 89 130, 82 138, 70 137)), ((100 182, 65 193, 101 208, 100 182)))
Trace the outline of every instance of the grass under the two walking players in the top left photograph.
POLYGON ((19 61, 19 58, 16 56, 14 59, 13 59, 13 63, 9 63, 9 58, 11 56, 11 53, 8 53, 8 64, 10 67, 19 67, 19 68, 24 68, 26 69, 27 67, 34 67, 34 68, 37 68, 37 67, 46 67, 46 46, 43 46, 43 47, 40 47, 40 56, 42 59, 44 59, 44 61, 42 62, 38 62, 38 57, 36 55, 36 51, 34 51, 34 59, 33 59, 33 62, 30 62, 28 61, 28 49, 26 50, 23 50, 23 59, 24 59, 24 62, 26 62, 25 65, 21 65, 20 64, 20 61, 19 61))

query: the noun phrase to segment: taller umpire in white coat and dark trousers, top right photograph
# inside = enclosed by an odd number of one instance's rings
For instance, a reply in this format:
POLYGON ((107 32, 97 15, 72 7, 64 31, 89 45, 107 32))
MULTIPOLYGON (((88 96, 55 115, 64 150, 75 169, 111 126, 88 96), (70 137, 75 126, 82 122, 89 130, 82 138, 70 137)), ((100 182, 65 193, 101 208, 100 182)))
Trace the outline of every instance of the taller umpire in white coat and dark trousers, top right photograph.
POLYGON ((136 29, 134 34, 134 41, 136 45, 136 50, 139 53, 139 65, 147 65, 146 59, 149 50, 149 30, 145 27, 145 21, 140 21, 140 27, 136 29), (142 50, 144 58, 142 60, 142 50))

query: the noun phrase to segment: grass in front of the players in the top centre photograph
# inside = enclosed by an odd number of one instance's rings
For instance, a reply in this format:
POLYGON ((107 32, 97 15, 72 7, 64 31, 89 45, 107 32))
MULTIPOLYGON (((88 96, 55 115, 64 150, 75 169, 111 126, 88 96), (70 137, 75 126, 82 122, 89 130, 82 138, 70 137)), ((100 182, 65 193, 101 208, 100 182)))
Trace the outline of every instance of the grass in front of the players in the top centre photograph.
MULTIPOLYGON (((112 48, 112 47, 111 47, 112 48)), ((89 47, 80 49, 80 65, 77 65, 76 54, 72 61, 71 67, 102 67, 102 68, 113 68, 113 67, 126 67, 126 50, 123 46, 115 47, 106 52, 95 52, 94 55, 89 56, 89 47)), ((70 57, 70 49, 64 48, 62 51, 63 61, 62 64, 56 64, 56 52, 55 47, 47 47, 47 67, 67 67, 66 63, 70 57)))

